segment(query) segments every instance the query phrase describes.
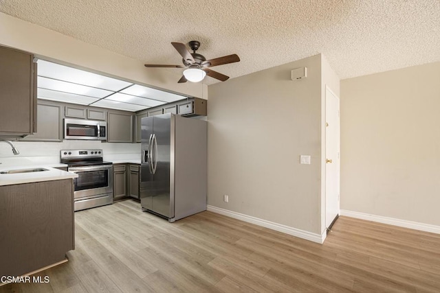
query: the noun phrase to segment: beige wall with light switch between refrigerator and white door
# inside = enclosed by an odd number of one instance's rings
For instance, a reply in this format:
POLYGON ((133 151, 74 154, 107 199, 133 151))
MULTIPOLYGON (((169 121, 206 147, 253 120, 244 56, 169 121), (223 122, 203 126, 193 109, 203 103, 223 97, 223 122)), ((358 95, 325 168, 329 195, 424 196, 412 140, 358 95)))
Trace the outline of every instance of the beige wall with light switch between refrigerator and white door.
POLYGON ((321 56, 213 84, 209 95, 208 204, 320 234, 321 56), (308 77, 292 81, 298 67, 308 77))

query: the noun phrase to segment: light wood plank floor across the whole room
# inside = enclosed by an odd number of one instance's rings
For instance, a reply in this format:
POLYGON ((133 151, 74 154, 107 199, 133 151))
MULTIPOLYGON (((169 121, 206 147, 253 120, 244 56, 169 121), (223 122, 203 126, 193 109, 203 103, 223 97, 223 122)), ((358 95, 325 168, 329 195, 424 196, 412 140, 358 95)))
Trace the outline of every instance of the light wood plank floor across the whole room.
POLYGON ((1 292, 440 292, 440 235, 340 217, 325 244, 203 212, 173 224, 131 200, 79 211, 50 283, 1 292))

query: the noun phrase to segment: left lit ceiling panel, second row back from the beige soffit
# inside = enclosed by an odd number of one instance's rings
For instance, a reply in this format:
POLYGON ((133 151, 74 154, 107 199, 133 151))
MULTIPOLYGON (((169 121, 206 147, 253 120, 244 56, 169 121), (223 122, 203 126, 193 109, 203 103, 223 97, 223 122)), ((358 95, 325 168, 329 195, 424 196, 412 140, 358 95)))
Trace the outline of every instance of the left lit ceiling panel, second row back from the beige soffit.
POLYGON ((62 91, 64 93, 74 93, 76 95, 87 95, 89 97, 107 97, 112 91, 96 89, 90 86, 73 84, 71 82, 62 82, 60 80, 52 80, 50 78, 38 77, 37 85, 41 89, 50 89, 53 91, 62 91))

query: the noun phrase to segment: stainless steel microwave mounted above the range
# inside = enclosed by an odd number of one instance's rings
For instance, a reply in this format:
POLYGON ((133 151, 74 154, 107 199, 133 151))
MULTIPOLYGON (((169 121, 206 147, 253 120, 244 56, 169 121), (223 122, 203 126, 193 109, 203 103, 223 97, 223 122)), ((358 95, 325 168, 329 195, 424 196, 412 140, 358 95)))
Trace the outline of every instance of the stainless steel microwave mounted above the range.
POLYGON ((64 139, 107 140, 107 122, 64 119, 64 139))

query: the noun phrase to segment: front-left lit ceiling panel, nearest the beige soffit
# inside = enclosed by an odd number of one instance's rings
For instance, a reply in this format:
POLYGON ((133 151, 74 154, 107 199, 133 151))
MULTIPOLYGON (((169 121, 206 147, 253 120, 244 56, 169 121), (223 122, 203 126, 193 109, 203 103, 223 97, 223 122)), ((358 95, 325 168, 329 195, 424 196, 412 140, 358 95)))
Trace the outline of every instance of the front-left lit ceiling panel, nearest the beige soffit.
POLYGON ((45 60, 39 60, 38 64, 38 75, 45 78, 83 84, 85 86, 92 86, 109 91, 120 91, 132 84, 131 82, 109 78, 104 75, 59 65, 45 60))

